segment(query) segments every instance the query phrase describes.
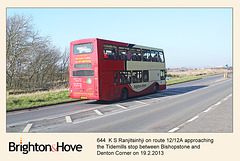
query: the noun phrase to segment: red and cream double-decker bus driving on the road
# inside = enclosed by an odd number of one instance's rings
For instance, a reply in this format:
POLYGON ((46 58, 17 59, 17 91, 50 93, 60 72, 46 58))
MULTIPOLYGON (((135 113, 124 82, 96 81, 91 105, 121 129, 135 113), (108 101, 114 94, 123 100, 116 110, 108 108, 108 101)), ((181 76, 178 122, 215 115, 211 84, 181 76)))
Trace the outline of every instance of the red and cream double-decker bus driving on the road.
POLYGON ((71 98, 112 101, 166 89, 163 49, 98 38, 70 44, 71 98))

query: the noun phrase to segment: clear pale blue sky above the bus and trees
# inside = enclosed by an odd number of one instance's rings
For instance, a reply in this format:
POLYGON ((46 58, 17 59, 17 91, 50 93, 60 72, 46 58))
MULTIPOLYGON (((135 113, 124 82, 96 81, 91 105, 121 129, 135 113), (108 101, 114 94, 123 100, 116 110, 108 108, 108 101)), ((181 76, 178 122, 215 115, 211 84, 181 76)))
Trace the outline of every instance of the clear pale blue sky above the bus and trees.
POLYGON ((162 48, 166 67, 232 66, 232 8, 7 8, 62 51, 101 38, 162 48))

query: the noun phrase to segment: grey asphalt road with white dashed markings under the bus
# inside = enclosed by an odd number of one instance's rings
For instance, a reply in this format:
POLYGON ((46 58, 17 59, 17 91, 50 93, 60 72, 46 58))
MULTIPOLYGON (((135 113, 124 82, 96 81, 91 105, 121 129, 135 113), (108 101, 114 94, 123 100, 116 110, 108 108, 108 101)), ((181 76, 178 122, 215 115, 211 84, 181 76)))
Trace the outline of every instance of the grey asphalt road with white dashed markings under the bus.
POLYGON ((6 131, 232 132, 232 108, 232 79, 217 75, 126 101, 86 100, 9 112, 6 131))

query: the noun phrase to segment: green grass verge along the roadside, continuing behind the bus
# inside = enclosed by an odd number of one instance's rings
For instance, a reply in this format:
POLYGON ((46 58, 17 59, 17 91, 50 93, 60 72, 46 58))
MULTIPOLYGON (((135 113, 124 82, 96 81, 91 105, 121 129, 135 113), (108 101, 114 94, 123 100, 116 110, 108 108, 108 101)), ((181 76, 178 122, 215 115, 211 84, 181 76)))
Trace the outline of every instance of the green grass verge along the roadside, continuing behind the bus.
MULTIPOLYGON (((167 85, 197 80, 205 76, 206 75, 173 78, 171 80, 167 80, 167 85)), ((71 102, 76 100, 77 99, 72 99, 69 97, 68 89, 62 90, 62 91, 50 91, 50 92, 40 92, 40 93, 33 93, 33 94, 8 96, 6 110, 13 111, 13 110, 19 110, 19 109, 53 105, 53 104, 64 103, 64 102, 71 102)))

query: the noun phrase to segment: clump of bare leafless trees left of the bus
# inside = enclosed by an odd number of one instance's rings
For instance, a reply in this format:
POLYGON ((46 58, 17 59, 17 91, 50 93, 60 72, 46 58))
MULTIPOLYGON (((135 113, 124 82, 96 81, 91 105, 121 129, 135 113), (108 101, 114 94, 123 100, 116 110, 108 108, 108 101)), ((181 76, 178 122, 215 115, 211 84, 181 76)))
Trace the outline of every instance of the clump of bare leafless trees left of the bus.
POLYGON ((50 88, 68 82, 69 49, 63 53, 49 37, 33 29, 32 17, 7 18, 7 87, 8 89, 50 88))

